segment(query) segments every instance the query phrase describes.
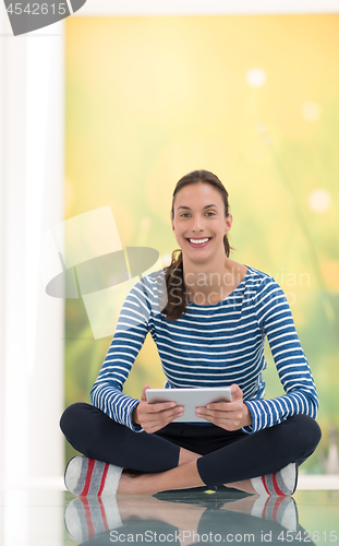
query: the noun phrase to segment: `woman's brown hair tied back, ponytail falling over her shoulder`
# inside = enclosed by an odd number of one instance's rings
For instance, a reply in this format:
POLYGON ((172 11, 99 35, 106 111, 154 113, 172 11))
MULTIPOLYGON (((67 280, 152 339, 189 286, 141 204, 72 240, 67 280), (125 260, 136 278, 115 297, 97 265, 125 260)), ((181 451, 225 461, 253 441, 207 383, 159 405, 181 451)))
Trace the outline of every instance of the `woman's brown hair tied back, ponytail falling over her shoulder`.
MULTIPOLYGON (((210 183, 221 193, 225 203, 225 216, 227 217, 230 214, 228 192, 220 182, 219 178, 208 170, 193 170, 192 173, 183 176, 179 182, 177 182, 172 198, 171 218, 174 218, 174 198, 178 191, 180 191, 184 186, 197 182, 210 183)), ((225 253, 229 257, 232 247, 230 247, 227 235, 223 236, 223 246, 225 253)), ((173 321, 180 319, 182 313, 186 311, 187 306, 187 292, 183 280, 181 249, 173 250, 171 264, 167 268, 165 278, 167 286, 167 305, 161 312, 166 313, 166 320, 173 321)))

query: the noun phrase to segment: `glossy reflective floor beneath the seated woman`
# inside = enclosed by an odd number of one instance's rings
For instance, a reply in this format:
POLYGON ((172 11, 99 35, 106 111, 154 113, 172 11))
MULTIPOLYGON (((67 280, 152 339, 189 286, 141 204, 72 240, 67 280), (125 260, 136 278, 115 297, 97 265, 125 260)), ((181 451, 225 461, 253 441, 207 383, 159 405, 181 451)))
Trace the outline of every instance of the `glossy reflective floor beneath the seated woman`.
POLYGON ((339 546, 339 490, 292 498, 230 489, 113 499, 63 490, 7 490, 0 498, 4 546, 111 544, 317 544, 339 546))

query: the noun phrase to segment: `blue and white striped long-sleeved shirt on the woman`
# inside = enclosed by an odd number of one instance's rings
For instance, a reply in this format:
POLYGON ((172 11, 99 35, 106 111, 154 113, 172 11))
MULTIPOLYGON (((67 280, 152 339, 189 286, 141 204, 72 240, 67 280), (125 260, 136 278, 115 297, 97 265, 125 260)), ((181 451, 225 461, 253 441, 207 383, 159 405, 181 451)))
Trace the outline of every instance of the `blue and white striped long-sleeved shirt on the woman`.
POLYGON ((94 383, 92 403, 117 423, 137 429, 132 412, 138 400, 122 393, 149 332, 157 345, 166 388, 229 387, 237 383, 252 415, 245 432, 271 427, 295 414, 316 417, 318 399, 292 313, 278 283, 250 268, 239 286, 214 305, 187 302, 175 321, 161 313, 166 305, 165 271, 144 276, 128 295, 117 330, 94 383), (262 371, 267 367, 267 335, 286 394, 264 400, 262 371))

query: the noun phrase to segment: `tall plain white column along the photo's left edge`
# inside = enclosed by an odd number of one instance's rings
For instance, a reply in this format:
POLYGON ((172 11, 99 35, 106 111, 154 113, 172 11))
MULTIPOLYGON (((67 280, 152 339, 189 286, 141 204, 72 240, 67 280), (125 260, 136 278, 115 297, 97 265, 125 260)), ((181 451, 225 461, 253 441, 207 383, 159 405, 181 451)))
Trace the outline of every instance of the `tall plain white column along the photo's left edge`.
POLYGON ((63 221, 63 23, 14 37, 3 7, 0 22, 0 472, 24 488, 63 473, 63 300, 40 278, 63 221))

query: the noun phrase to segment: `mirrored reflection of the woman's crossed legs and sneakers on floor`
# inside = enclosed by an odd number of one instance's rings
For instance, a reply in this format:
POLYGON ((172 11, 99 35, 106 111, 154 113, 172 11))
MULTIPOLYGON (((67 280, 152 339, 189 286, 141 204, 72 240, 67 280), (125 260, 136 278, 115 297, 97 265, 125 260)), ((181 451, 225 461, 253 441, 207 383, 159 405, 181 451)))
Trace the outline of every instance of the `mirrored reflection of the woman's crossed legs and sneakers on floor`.
POLYGON ((65 507, 64 522, 71 541, 86 546, 314 544, 299 523, 292 497, 250 496, 226 488, 153 497, 74 498, 65 507))

